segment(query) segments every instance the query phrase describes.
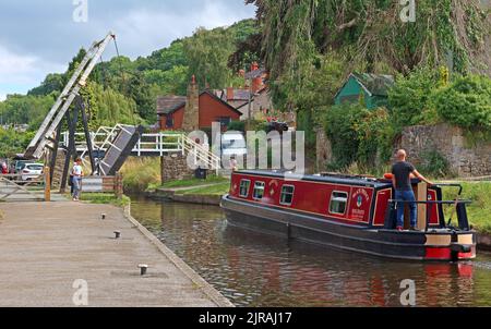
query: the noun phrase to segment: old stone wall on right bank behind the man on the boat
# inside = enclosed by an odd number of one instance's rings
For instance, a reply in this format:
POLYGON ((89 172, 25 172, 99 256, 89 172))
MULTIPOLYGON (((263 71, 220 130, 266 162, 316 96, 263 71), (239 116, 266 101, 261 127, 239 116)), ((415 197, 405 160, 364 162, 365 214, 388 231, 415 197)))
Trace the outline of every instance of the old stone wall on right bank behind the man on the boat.
POLYGON ((459 127, 447 124, 417 125, 404 130, 400 147, 406 149, 415 164, 422 162, 427 151, 438 151, 445 157, 451 170, 458 176, 491 174, 491 143, 470 145, 459 127))

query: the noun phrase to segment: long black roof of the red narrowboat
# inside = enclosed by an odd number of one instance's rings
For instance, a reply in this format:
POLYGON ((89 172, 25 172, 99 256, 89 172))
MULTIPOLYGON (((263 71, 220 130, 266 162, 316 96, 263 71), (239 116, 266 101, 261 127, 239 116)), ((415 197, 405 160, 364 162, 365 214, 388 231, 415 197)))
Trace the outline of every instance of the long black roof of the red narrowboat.
MULTIPOLYGON (((285 179, 287 172, 285 171, 267 171, 267 170, 241 170, 237 172, 238 174, 250 174, 250 175, 260 175, 260 176, 270 176, 277 179, 285 179)), ((294 175, 294 173, 289 173, 294 175)), ((297 176, 295 176, 297 179, 297 176)), ((369 186, 374 188, 387 187, 392 185, 392 182, 376 180, 373 178, 361 178, 361 176, 348 176, 348 175, 313 175, 306 174, 299 175, 298 180, 301 181, 311 181, 311 182, 323 182, 323 183, 333 183, 333 184, 344 184, 344 185, 356 185, 356 186, 369 186)), ((416 180, 415 182, 417 182, 416 180)))

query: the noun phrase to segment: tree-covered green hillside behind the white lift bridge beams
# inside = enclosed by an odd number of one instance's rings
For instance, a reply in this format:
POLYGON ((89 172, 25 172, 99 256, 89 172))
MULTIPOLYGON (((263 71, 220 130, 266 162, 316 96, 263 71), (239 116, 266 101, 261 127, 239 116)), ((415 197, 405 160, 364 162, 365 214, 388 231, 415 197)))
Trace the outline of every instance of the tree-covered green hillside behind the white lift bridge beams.
MULTIPOLYGON (((195 74, 202 87, 224 88, 235 73, 227 66, 237 45, 258 32, 254 20, 244 20, 229 27, 212 31, 197 28, 193 36, 178 39, 164 49, 132 61, 121 56, 98 63, 88 86, 93 126, 156 120, 155 102, 160 95, 185 95, 187 84, 195 74)), ((29 124, 31 130, 43 118, 70 78, 85 49, 70 62, 67 72, 51 73, 27 95, 11 95, 0 102, 4 124, 29 124)))

